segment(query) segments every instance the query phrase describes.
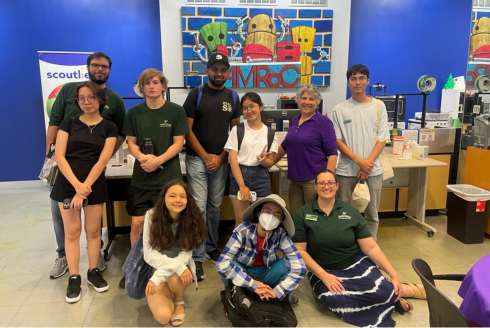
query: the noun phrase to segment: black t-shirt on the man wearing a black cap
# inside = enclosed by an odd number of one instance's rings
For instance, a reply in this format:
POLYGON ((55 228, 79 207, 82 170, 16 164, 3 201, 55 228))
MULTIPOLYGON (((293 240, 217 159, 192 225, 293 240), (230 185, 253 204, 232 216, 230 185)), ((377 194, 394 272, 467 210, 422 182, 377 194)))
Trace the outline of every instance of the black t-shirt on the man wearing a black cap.
MULTIPOLYGON (((199 88, 189 92, 184 102, 187 117, 194 119, 192 132, 208 154, 219 155, 228 140, 230 121, 242 115, 240 99, 236 104, 230 89, 211 89, 204 84, 201 103, 196 110, 199 88)), ((191 156, 198 156, 189 144, 186 144, 186 152, 191 156)))

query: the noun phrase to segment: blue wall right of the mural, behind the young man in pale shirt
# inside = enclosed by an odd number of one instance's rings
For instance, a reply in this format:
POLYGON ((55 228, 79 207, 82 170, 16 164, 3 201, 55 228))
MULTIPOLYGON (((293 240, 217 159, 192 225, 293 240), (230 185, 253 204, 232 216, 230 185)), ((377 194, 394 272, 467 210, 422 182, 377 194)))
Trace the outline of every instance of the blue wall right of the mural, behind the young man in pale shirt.
MULTIPOLYGON (((440 109, 449 73, 466 76, 471 10, 469 0, 352 0, 349 66, 366 65, 370 84, 387 85, 390 95, 419 92, 417 80, 433 75, 427 109, 440 109)), ((407 97, 406 119, 421 110, 421 96, 407 97)))

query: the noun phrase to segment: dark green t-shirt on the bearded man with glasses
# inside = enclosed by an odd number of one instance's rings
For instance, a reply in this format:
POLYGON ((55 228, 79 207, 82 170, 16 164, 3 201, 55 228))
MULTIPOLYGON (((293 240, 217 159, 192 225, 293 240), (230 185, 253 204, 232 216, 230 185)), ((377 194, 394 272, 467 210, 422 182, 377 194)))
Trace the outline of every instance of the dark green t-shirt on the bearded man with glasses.
MULTIPOLYGON (((60 126, 61 121, 66 117, 78 117, 83 114, 82 110, 75 104, 75 87, 78 84, 80 82, 69 82, 63 85, 51 108, 49 126, 60 126)), ((116 124, 117 134, 125 139, 126 136, 123 134, 124 119, 126 118, 124 101, 108 87, 103 90, 107 97, 107 104, 100 116, 116 124)))

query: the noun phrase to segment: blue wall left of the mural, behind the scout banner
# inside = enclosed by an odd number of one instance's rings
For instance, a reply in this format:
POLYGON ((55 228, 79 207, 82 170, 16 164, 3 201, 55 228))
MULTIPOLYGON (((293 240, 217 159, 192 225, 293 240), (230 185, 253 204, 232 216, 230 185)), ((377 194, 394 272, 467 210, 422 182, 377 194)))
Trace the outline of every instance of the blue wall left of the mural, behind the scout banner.
POLYGON ((6 155, 0 182, 36 180, 43 163, 46 132, 37 51, 103 51, 113 61, 108 87, 135 97, 133 83, 140 73, 162 69, 159 26, 154 0, 0 1, 0 72, 9 77, 0 88, 6 155))

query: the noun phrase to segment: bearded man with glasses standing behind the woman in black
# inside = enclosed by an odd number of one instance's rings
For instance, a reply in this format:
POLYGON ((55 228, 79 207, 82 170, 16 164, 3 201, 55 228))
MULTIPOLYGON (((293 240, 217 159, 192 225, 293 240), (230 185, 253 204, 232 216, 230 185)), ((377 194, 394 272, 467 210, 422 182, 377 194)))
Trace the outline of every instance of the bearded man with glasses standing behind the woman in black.
MULTIPOLYGON (((114 122, 117 126, 118 137, 116 140, 116 146, 114 147, 114 153, 121 147, 126 136, 123 134, 124 119, 126 117, 126 108, 122 98, 109 89, 106 86, 106 81, 109 78, 109 74, 112 67, 112 60, 103 52, 94 52, 87 58, 87 71, 89 73, 89 79, 92 82, 97 83, 103 90, 107 97, 107 105, 100 115, 114 122)), ((63 85, 56 100, 51 108, 51 115, 49 117, 49 127, 46 135, 46 154, 49 151, 49 147, 52 143, 56 143, 56 135, 58 134, 58 126, 66 117, 78 117, 83 112, 76 106, 74 91, 75 87, 80 82, 69 82, 63 85)), ((51 270, 49 277, 56 279, 65 274, 68 270, 68 264, 65 256, 65 230, 63 226, 63 220, 61 218, 61 212, 58 207, 58 203, 55 200, 51 200, 51 215, 53 217, 54 233, 56 235, 56 242, 58 244, 58 258, 55 261, 54 267, 51 270)), ((100 255, 99 263, 97 265, 100 271, 105 269, 105 262, 100 255)))

